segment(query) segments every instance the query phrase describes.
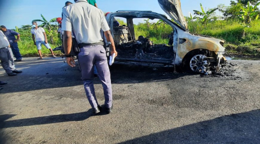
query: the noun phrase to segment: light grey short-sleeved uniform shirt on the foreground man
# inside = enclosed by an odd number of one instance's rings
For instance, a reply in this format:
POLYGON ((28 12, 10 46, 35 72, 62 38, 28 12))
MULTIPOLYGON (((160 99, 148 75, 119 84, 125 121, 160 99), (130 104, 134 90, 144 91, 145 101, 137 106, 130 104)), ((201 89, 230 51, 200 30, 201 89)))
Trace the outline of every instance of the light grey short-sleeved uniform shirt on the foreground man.
POLYGON ((75 4, 62 10, 62 30, 72 31, 79 44, 94 44, 103 41, 100 29, 110 30, 102 10, 88 4, 86 0, 78 0, 75 4))

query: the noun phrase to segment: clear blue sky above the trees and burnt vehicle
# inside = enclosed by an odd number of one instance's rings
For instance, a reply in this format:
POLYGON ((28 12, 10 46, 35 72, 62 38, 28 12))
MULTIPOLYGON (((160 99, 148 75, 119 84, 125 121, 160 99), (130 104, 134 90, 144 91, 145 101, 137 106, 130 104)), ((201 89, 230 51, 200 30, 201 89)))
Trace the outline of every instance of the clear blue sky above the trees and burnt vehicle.
MULTIPOLYGON (((31 24, 33 19, 41 19, 41 14, 47 20, 61 17, 62 7, 67 0, 0 0, 0 25, 7 29, 14 29, 15 26, 31 24)), ((70 0, 74 2, 73 0, 70 0)), ((117 10, 152 10, 162 13, 157 0, 96 0, 98 7, 104 12, 115 12, 117 10)), ((184 16, 188 16, 193 10, 217 7, 218 4, 229 5, 230 0, 181 0, 181 7, 184 16)), ((217 13, 219 14, 219 13, 217 13)))

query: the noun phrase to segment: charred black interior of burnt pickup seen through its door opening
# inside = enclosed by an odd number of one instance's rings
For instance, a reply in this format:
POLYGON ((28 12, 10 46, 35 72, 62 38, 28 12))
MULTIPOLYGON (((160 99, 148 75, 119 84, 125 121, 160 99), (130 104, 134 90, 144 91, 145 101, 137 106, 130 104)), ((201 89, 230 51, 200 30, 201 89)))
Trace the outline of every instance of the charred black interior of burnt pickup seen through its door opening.
MULTIPOLYGON (((152 15, 145 15, 139 13, 140 18, 158 18, 152 15)), ((133 16, 134 17, 134 16, 133 16)), ((133 19, 128 16, 129 19, 133 19)), ((135 17, 138 18, 138 17, 135 17)), ((111 18, 111 21, 114 18, 111 18)), ((129 21, 129 20, 128 20, 129 21)), ((167 44, 153 44, 149 38, 140 35, 135 40, 131 35, 132 25, 122 25, 113 27, 111 33, 113 34, 116 50, 118 52, 115 63, 117 62, 136 62, 136 63, 155 63, 155 64, 171 64, 174 57, 172 45, 167 44)))

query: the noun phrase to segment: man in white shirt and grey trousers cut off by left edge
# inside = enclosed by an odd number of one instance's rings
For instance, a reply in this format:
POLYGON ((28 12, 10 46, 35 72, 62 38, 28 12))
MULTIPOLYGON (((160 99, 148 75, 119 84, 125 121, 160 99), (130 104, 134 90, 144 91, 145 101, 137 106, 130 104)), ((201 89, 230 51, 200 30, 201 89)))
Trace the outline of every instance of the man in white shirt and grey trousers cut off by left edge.
POLYGON ((13 61, 13 52, 10 48, 10 44, 7 37, 0 30, 0 60, 1 66, 4 68, 8 76, 15 76, 16 73, 21 73, 22 71, 16 70, 13 61))

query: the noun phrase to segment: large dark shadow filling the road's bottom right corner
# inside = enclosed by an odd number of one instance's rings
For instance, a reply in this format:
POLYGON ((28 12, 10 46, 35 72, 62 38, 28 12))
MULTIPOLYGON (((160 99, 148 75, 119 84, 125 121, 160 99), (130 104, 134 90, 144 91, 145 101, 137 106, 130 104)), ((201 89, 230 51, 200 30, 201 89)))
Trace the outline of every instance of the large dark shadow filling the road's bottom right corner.
POLYGON ((260 109, 150 134, 128 143, 259 143, 260 109))

